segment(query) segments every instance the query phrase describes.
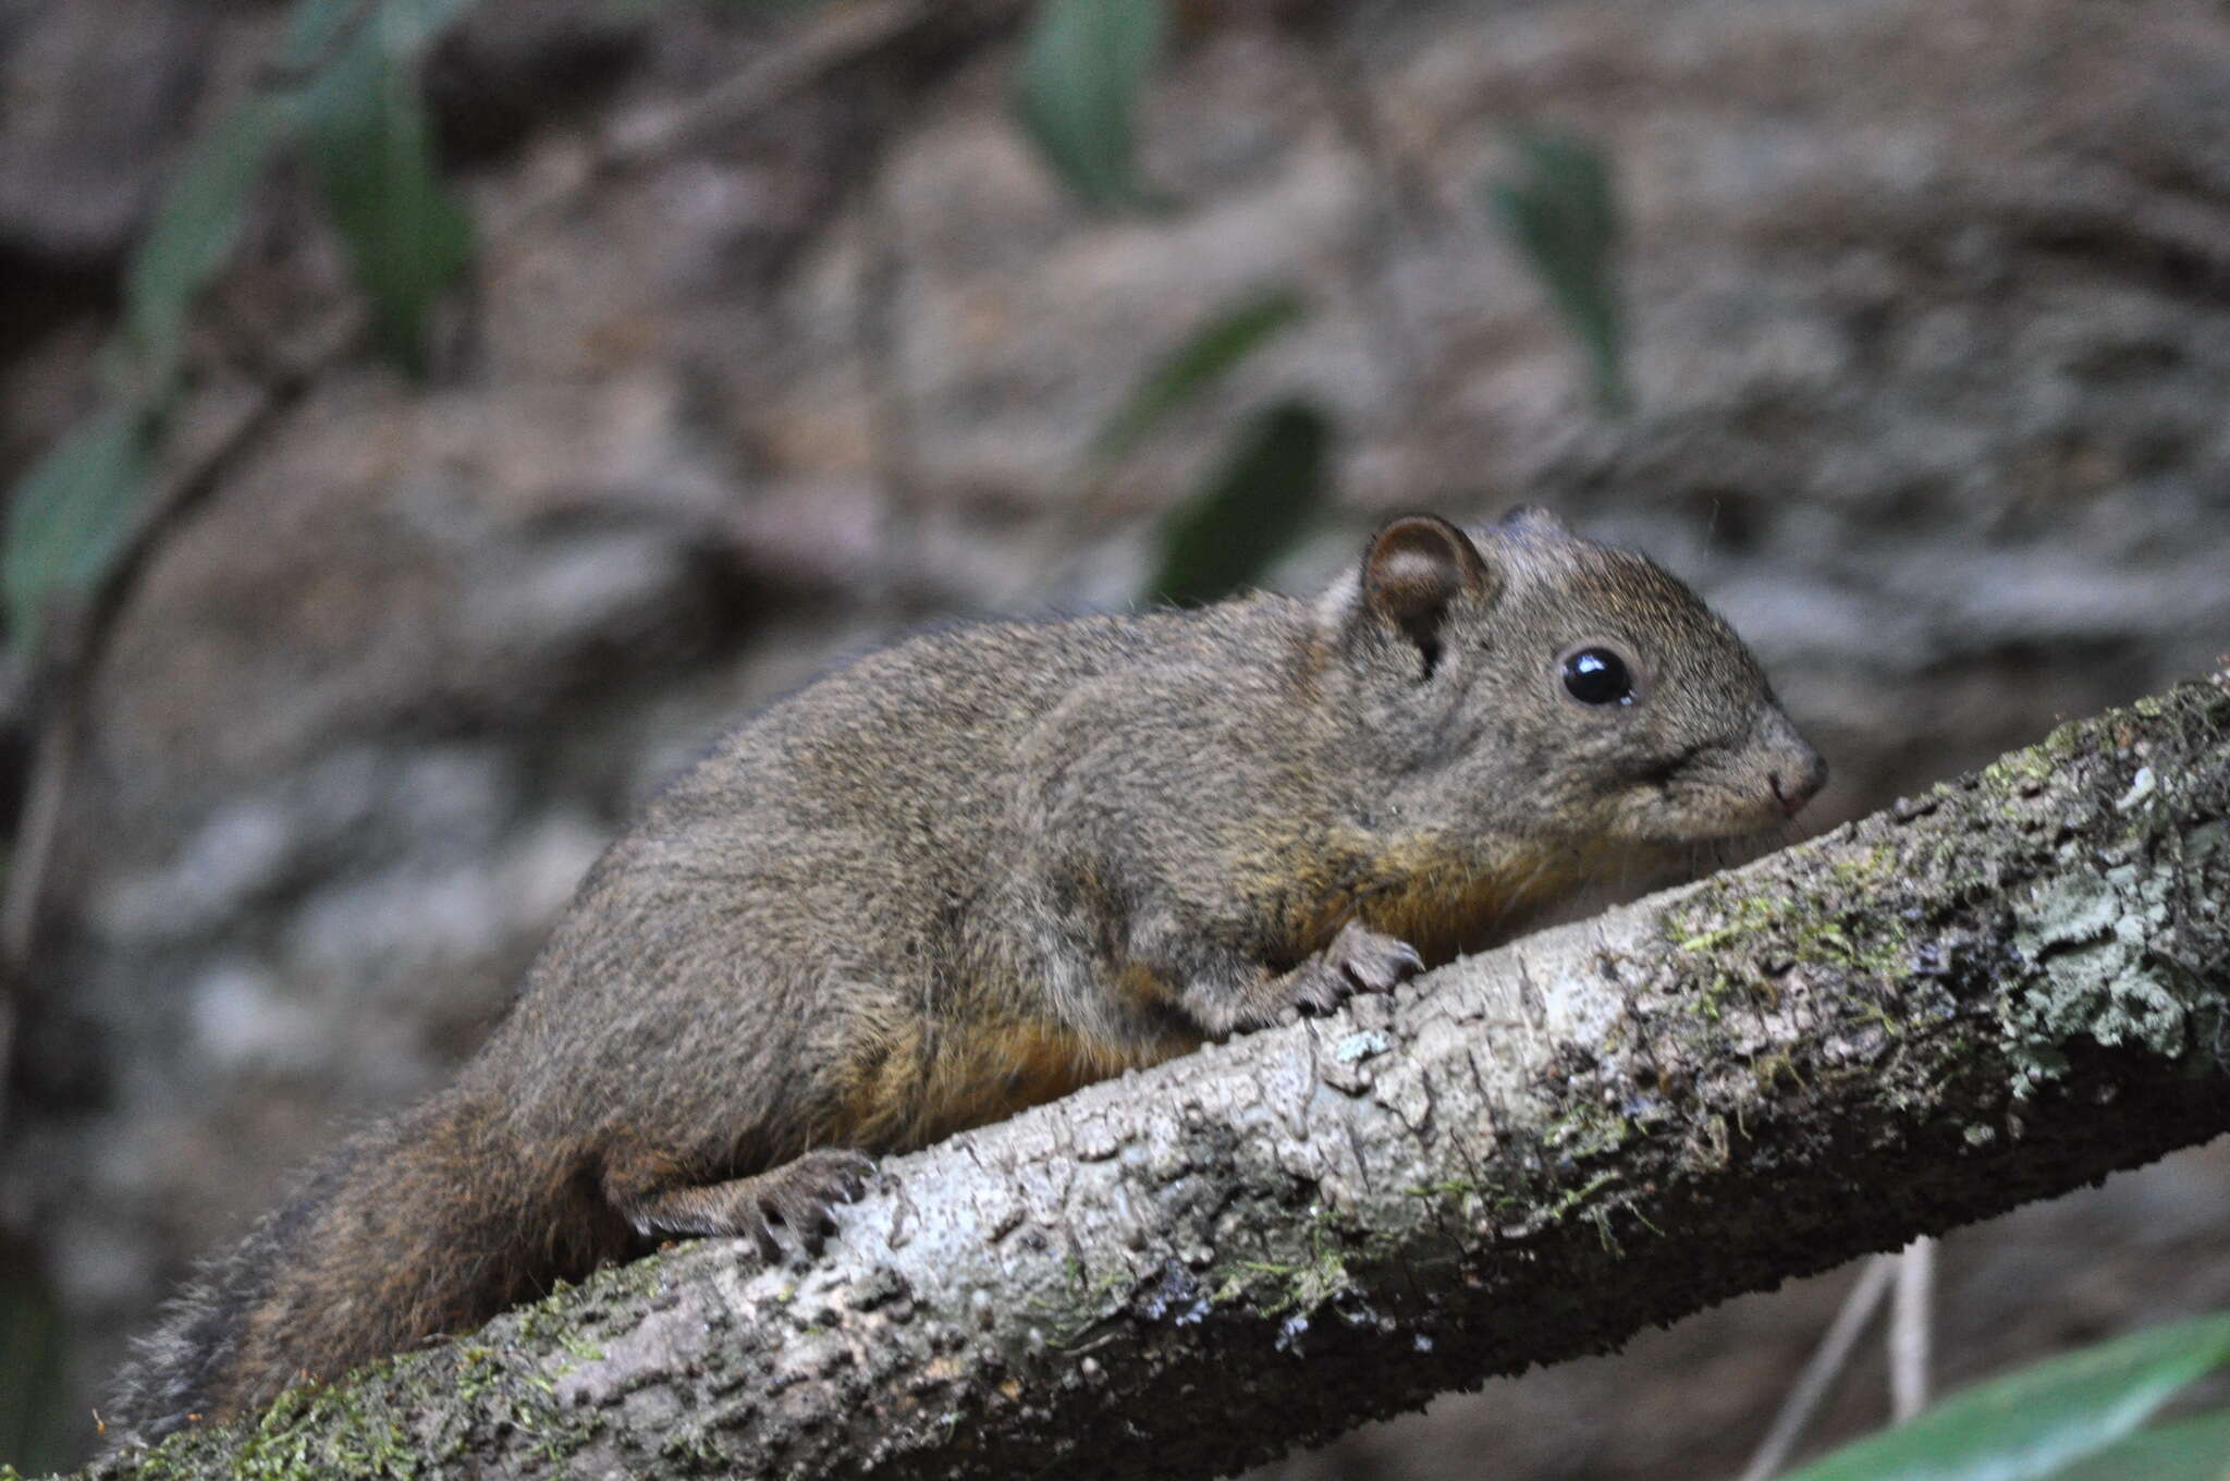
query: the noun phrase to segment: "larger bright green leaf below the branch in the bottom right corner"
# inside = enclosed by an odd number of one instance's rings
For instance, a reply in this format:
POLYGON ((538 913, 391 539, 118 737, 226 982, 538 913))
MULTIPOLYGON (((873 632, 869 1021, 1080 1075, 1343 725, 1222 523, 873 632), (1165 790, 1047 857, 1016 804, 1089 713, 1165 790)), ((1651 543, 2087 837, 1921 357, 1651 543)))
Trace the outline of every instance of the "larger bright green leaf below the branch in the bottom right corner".
POLYGON ((1784 1481, 2047 1481, 2230 1363, 2230 1314, 2152 1327, 1953 1394, 1784 1481))

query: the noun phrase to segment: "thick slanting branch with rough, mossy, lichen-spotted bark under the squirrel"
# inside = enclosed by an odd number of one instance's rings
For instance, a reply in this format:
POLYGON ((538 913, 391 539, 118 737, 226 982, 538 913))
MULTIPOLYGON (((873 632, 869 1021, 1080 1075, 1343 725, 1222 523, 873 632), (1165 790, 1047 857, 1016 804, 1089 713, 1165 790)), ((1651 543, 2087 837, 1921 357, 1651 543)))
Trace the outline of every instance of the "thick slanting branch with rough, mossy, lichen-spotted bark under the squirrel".
POLYGON ((98 1477, 1215 1474, 2230 1129, 2230 671, 98 1477))

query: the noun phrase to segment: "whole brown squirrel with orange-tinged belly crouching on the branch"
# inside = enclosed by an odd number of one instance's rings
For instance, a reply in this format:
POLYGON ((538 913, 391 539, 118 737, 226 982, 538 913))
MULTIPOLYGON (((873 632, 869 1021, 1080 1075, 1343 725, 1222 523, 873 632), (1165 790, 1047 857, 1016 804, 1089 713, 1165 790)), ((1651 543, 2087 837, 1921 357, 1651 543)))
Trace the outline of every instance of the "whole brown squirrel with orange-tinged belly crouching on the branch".
POLYGON ((662 1236, 812 1247, 870 1155, 1392 988, 1824 781, 1719 618, 1534 509, 1396 520, 1316 602, 910 638, 647 807, 457 1082, 172 1305, 123 1430, 662 1236))

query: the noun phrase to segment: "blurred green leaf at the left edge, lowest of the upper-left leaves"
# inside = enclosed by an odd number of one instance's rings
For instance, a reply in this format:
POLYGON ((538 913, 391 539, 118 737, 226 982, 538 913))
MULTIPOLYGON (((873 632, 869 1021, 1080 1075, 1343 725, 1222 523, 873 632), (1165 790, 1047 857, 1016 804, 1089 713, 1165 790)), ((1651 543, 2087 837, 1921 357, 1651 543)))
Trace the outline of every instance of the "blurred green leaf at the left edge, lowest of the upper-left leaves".
POLYGON ((149 417, 107 406, 16 484, 0 549, 0 602, 18 651, 36 651, 49 602, 89 591, 123 549, 147 491, 149 417))

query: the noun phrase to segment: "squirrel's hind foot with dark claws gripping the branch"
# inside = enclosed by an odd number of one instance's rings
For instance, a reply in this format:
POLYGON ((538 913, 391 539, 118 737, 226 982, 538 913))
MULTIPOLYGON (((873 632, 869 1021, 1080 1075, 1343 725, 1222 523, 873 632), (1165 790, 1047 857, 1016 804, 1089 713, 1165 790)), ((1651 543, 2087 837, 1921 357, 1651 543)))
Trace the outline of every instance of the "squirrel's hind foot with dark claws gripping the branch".
POLYGON ((656 1236, 743 1236, 767 1260, 783 1253, 785 1236, 807 1253, 836 1229, 832 1209, 867 1191, 874 1160, 823 1146, 749 1178, 680 1182, 660 1175, 656 1160, 622 1160, 604 1171, 604 1198, 636 1227, 656 1236))

